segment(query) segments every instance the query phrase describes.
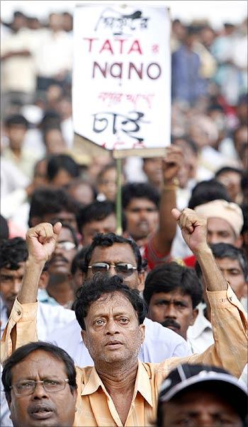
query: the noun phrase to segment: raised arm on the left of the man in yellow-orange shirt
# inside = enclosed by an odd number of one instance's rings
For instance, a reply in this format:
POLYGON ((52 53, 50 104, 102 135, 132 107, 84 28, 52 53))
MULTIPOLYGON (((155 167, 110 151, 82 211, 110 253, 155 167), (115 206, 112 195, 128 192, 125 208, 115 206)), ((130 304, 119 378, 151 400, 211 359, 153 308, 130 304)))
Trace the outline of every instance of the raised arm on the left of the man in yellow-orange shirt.
POLYGON ((40 274, 55 250, 55 243, 62 225, 53 227, 46 222, 28 230, 28 260, 23 276, 21 290, 13 304, 9 321, 1 338, 1 362, 18 347, 30 341, 37 341, 36 314, 37 292, 40 274))

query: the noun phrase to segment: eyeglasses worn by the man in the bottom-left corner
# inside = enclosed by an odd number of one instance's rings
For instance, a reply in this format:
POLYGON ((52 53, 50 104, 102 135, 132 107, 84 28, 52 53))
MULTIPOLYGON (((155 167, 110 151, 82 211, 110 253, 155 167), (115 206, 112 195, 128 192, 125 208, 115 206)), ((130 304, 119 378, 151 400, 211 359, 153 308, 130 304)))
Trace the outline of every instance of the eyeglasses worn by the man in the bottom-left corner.
POLYGON ((65 385, 69 380, 23 380, 16 382, 16 384, 11 385, 11 389, 15 392, 16 396, 28 396, 28 394, 33 394, 35 387, 40 382, 43 385, 43 388, 48 393, 55 393, 64 390, 65 385))

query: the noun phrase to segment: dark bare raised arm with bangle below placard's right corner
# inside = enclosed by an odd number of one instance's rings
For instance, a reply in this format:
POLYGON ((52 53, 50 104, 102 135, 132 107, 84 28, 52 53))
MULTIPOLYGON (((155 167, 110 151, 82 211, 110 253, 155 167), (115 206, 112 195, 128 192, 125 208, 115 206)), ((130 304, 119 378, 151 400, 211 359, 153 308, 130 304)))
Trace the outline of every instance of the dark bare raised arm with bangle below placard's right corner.
POLYGON ((176 206, 175 181, 183 162, 183 154, 179 147, 167 147, 167 154, 162 159, 164 186, 160 195, 159 228, 152 237, 154 249, 160 254, 169 254, 176 234, 176 222, 171 210, 176 206))

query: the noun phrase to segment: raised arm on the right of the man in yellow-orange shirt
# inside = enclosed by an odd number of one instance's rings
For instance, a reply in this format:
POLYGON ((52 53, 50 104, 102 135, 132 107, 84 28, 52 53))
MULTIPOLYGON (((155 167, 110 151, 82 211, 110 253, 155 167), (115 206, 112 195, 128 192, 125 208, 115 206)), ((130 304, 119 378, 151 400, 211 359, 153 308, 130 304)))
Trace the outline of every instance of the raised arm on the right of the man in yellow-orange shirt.
POLYGON ((191 209, 184 209, 183 212, 173 209, 172 215, 201 266, 211 307, 215 343, 204 353, 170 360, 170 369, 178 363, 205 363, 221 366, 239 377, 247 363, 247 316, 215 263, 207 244, 206 220, 191 209))

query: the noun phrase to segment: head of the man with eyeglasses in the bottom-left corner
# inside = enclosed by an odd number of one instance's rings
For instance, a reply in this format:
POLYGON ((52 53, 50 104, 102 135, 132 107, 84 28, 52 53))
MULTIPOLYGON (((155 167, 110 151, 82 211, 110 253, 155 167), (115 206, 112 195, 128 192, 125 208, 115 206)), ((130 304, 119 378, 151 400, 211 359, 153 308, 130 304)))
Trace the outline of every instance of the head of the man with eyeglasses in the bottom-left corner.
POLYGON ((19 347, 1 378, 13 427, 72 427, 76 370, 61 348, 43 341, 19 347))

